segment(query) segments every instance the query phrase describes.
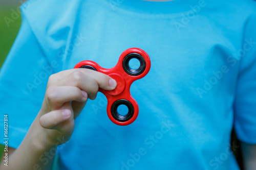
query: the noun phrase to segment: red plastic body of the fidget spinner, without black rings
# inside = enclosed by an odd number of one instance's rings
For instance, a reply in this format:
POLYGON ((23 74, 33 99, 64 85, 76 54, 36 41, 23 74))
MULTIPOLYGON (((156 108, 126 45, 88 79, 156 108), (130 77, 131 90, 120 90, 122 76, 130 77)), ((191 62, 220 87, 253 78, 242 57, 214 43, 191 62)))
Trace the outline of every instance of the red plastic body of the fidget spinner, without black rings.
POLYGON ((106 96, 106 99, 108 100, 108 106, 106 109, 107 109, 107 113, 108 113, 110 120, 113 123, 115 123, 117 125, 121 125, 121 126, 129 125, 129 124, 133 123, 134 120, 138 116, 139 107, 138 107, 137 102, 133 99, 133 97, 130 93, 130 87, 131 87, 131 84, 135 80, 143 78, 150 70, 151 61, 150 61, 150 57, 147 55, 147 53, 144 52, 143 50, 141 50, 140 48, 129 48, 129 49, 125 50, 120 55, 118 63, 116 64, 116 66, 114 66, 112 68, 109 68, 109 69, 102 68, 97 63, 95 63, 94 61, 90 61, 90 60, 81 61, 78 64, 76 64, 76 66, 74 68, 80 68, 85 65, 94 67, 97 71, 102 72, 103 74, 106 74, 106 75, 112 77, 117 82, 117 86, 114 90, 108 91, 108 90, 103 90, 103 89, 99 88, 99 91, 102 92, 106 96), (127 56, 129 56, 130 54, 139 54, 144 59, 143 62, 145 64, 145 68, 144 68, 143 72, 139 75, 132 76, 130 74, 127 74, 127 72, 124 70, 124 63, 123 63, 124 58, 125 57, 127 58, 127 56), (114 118, 113 113, 111 112, 112 105, 114 104, 114 102, 116 102, 118 100, 129 101, 134 108, 133 116, 125 122, 120 122, 118 119, 114 118))

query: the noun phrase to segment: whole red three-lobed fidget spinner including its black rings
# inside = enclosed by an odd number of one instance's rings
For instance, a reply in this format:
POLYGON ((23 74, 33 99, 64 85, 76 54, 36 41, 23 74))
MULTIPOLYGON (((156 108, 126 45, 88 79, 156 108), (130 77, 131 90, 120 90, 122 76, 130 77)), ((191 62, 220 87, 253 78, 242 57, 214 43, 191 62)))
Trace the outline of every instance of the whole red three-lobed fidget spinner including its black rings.
POLYGON ((143 78, 150 70, 150 66, 150 57, 146 52, 140 48, 129 48, 120 55, 117 65, 112 68, 102 68, 90 60, 81 61, 74 68, 92 69, 116 80, 117 86, 114 90, 109 91, 99 88, 99 91, 108 100, 106 111, 111 121, 117 125, 125 126, 133 123, 139 113, 138 104, 130 93, 131 84, 135 80, 143 78), (130 60, 134 58, 140 62, 137 69, 132 69, 129 65, 130 60), (121 115, 118 113, 117 108, 120 105, 125 105, 128 108, 127 114, 121 115))

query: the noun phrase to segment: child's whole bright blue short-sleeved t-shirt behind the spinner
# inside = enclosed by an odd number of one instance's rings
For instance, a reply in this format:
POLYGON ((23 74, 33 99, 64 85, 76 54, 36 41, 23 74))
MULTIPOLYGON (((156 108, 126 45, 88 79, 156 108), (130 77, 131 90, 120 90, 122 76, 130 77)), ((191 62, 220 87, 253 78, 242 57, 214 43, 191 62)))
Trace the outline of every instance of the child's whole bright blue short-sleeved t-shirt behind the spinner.
POLYGON ((0 74, 0 124, 8 114, 10 147, 40 110, 51 74, 82 60, 111 68, 130 47, 151 58, 151 70, 131 86, 138 118, 113 124, 98 93, 58 147, 61 169, 236 170, 232 127, 256 143, 254 1, 38 0, 21 9, 0 74))

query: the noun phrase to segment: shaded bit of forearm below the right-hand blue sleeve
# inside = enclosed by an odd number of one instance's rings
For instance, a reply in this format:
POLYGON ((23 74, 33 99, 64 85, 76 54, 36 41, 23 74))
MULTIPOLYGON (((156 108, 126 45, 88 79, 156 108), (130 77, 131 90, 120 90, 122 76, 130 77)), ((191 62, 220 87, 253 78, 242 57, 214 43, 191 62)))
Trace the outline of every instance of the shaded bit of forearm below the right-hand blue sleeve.
POLYGON ((256 169, 256 144, 241 142, 245 170, 256 169))

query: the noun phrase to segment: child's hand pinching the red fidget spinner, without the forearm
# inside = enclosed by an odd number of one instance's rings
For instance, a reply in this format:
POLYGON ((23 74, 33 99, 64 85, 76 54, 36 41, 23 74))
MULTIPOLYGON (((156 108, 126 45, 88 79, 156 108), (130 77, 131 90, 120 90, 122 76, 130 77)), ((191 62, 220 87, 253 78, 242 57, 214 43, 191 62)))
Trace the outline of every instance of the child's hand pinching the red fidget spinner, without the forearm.
POLYGON ((48 146, 54 147, 70 139, 74 119, 80 114, 88 98, 96 98, 99 87, 113 90, 116 81, 101 72, 84 68, 65 70, 50 76, 38 114, 44 142, 48 146), (59 139, 63 142, 60 143, 59 139))

